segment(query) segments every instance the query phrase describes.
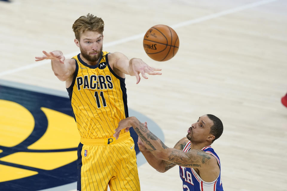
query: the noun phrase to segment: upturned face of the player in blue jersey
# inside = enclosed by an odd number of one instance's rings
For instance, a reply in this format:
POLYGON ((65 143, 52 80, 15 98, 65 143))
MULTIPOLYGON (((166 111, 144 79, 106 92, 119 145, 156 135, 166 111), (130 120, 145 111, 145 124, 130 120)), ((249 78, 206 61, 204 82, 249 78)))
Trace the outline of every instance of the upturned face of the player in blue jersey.
POLYGON ((193 143, 202 143, 210 135, 210 127, 213 121, 207 115, 199 117, 198 121, 191 125, 187 131, 187 138, 193 143))

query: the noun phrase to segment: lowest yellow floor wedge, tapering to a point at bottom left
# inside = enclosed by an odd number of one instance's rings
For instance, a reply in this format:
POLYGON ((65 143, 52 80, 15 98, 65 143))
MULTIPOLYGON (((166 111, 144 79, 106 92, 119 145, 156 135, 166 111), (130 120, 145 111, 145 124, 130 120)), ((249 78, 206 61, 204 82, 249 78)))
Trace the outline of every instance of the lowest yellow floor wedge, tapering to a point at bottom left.
POLYGON ((36 171, 10 167, 0 164, 0 182, 16 180, 38 174, 36 171))

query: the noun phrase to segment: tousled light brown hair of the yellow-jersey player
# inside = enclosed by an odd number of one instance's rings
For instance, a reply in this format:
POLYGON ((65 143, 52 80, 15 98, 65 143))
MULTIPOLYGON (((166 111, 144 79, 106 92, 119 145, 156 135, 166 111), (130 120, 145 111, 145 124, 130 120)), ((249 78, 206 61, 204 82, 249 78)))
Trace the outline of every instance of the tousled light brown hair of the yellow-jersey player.
POLYGON ((80 35, 86 30, 95 30, 103 35, 104 21, 102 18, 88 13, 87 16, 80 16, 73 24, 73 31, 77 40, 80 40, 80 35))

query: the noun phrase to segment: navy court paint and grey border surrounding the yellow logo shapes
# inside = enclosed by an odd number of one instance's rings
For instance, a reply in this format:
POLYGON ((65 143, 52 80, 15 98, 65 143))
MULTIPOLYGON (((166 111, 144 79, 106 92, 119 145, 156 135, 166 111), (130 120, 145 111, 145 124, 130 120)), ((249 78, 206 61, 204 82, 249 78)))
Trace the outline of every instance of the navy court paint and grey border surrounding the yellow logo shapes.
MULTIPOLYGON (((27 147, 37 141, 45 133, 48 125, 47 117, 40 110, 40 107, 53 109, 72 116, 71 103, 68 93, 65 91, 51 90, 47 88, 30 86, 27 84, 15 83, 0 80, 0 99, 16 102, 30 111, 35 119, 33 132, 15 147, 4 147, 0 153, 0 158, 16 153, 31 152, 27 147)), ((147 121, 149 129, 164 142, 164 135, 160 127, 151 119, 143 114, 129 109, 129 116, 136 116, 140 121, 147 121)), ((140 166, 146 162, 144 156, 139 152, 137 140, 138 136, 131 128, 130 133, 135 142, 135 151, 137 153, 137 164, 140 166)), ((77 148, 61 150, 34 150, 33 152, 61 152, 77 150, 77 148)), ((42 170, 33 167, 8 163, 0 161, 0 164, 12 167, 18 167, 27 170, 37 171, 39 174, 26 178, 20 178, 12 181, 0 182, 1 190, 45 190, 45 191, 65 191, 75 190, 77 188, 77 164, 73 161, 70 164, 59 167, 54 170, 42 170)))

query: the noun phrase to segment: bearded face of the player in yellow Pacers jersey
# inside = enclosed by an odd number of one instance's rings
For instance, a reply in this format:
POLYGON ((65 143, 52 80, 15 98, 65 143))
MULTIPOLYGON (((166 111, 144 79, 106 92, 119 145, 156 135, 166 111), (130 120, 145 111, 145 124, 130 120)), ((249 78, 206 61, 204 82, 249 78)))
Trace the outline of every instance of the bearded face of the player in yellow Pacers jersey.
POLYGON ((97 31, 87 30, 80 36, 80 41, 75 39, 80 47, 81 55, 89 62, 97 62, 103 50, 103 36, 97 31))

